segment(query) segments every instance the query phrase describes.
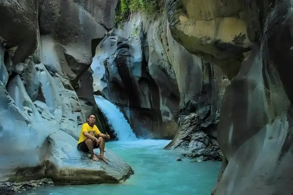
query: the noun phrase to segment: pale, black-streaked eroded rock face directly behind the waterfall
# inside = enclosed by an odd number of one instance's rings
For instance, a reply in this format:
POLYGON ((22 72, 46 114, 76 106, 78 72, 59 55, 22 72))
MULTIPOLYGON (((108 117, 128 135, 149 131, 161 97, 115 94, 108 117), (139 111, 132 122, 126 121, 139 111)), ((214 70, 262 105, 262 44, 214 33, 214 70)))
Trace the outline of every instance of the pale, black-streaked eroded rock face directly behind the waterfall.
POLYGON ((138 137, 175 136, 175 74, 155 28, 144 31, 143 16, 109 32, 97 46, 91 68, 94 91, 122 108, 138 137))

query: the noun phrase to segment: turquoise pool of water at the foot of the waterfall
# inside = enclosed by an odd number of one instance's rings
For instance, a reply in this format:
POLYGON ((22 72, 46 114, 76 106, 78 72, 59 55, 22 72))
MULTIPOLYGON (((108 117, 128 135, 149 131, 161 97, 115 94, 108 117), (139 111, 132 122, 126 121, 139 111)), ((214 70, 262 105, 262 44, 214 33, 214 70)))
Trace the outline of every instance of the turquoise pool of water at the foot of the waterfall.
POLYGON ((50 186, 26 195, 210 195, 217 181, 220 162, 176 161, 180 153, 163 150, 168 140, 108 142, 106 147, 134 169, 122 184, 50 186))

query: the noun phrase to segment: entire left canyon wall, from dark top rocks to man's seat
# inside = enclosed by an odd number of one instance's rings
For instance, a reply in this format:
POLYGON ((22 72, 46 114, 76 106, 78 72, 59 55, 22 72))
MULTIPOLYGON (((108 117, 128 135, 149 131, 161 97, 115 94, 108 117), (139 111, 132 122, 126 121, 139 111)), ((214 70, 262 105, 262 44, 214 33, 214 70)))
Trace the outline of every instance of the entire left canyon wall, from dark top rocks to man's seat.
POLYGON ((133 174, 108 149, 109 165, 76 149, 97 111, 91 45, 114 26, 116 4, 0 1, 0 181, 117 183, 133 174))

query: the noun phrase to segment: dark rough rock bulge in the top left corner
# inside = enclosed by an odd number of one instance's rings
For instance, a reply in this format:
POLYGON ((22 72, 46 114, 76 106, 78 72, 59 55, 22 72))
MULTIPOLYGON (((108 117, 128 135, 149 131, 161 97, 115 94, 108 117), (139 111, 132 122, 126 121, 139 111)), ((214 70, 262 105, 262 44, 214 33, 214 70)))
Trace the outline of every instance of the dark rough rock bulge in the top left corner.
POLYGON ((37 47, 38 1, 2 0, 0 18, 1 43, 8 49, 13 63, 20 63, 37 47))

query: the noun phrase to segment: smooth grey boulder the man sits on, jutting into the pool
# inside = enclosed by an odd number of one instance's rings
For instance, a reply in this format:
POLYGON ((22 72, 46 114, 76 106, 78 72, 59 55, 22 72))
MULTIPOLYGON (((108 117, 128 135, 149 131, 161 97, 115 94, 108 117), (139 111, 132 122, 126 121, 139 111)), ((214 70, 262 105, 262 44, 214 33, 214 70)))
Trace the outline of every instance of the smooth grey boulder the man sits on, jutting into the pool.
POLYGON ((63 131, 50 135, 48 141, 52 143, 52 155, 47 161, 51 168, 47 170, 47 176, 55 183, 119 183, 134 173, 125 161, 108 149, 105 150, 108 164, 91 160, 88 154, 76 149, 76 140, 63 131))

